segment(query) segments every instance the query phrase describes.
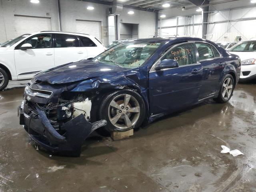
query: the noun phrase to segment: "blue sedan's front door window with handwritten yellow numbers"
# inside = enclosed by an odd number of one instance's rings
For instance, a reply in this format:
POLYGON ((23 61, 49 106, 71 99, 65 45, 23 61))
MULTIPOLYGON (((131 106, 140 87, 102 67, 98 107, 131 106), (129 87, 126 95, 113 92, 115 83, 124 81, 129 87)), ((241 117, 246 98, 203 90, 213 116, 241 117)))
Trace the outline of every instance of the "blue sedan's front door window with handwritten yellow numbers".
POLYGON ((192 43, 179 45, 172 50, 170 50, 161 60, 173 59, 178 61, 179 66, 195 64, 196 63, 196 53, 194 50, 194 45, 192 43))

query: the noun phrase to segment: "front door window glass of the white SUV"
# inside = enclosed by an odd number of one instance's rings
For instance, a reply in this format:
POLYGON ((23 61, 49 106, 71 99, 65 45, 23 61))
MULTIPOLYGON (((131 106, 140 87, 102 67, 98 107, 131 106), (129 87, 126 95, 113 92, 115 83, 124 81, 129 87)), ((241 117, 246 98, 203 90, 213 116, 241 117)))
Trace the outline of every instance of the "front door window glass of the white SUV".
POLYGON ((16 48, 20 49, 25 43, 31 44, 32 49, 52 48, 52 34, 37 34, 24 40, 16 48))

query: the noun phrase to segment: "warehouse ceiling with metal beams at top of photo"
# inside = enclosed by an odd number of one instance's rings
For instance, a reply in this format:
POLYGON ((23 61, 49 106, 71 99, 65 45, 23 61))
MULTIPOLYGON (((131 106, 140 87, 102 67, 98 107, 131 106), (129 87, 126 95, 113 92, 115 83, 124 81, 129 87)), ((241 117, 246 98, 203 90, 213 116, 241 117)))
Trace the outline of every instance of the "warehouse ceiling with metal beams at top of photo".
MULTIPOLYGON (((113 2, 113 0, 100 0, 100 1, 113 2)), ((170 4, 168 8, 192 5, 192 3, 189 0, 118 0, 118 2, 125 5, 156 9, 156 10, 164 9, 162 5, 166 3, 170 4)))

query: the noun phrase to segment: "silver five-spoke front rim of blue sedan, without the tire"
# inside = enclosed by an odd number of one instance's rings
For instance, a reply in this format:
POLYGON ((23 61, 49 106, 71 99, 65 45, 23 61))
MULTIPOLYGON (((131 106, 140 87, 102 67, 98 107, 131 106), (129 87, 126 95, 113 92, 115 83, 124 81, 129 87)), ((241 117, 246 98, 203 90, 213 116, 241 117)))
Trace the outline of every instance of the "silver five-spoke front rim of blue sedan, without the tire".
POLYGON ((140 117, 140 104, 130 94, 120 94, 108 106, 108 118, 116 128, 126 130, 136 124, 140 117))

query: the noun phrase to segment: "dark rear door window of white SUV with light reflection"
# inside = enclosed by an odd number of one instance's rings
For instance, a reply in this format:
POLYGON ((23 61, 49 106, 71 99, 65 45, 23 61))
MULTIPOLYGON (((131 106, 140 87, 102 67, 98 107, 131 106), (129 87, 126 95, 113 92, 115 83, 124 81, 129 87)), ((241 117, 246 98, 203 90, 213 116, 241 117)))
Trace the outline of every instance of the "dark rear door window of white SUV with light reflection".
POLYGON ((79 40, 76 35, 55 34, 56 48, 79 47, 79 40))

